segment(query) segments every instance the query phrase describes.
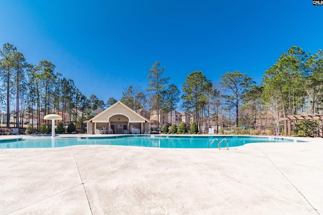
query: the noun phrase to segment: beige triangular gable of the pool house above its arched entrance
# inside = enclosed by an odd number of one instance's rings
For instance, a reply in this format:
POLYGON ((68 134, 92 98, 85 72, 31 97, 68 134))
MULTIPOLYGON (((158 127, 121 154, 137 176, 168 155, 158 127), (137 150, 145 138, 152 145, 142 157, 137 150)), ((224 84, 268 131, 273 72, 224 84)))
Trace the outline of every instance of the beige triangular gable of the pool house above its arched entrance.
POLYGON ((150 122, 147 118, 139 115, 120 101, 95 115, 88 122, 108 122, 114 115, 125 115, 128 117, 129 122, 150 122))

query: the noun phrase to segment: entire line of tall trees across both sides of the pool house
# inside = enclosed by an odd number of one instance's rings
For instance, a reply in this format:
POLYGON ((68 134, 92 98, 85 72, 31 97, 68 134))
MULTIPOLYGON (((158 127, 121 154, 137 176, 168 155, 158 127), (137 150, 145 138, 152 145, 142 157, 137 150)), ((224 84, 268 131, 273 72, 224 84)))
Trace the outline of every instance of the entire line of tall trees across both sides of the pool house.
MULTIPOLYGON (((38 65, 28 63, 12 44, 3 45, 0 57, 3 82, 0 112, 7 112, 7 127, 12 110, 15 110, 17 127, 21 126, 20 119, 27 110, 28 114, 36 114, 38 120, 41 112, 62 112, 63 121, 74 121, 83 131, 83 121, 93 116, 93 110, 105 109, 117 102, 113 97, 106 102, 95 95, 86 98, 72 79, 55 72, 53 63, 48 60, 40 60, 38 65)), ((170 83, 170 77, 163 77, 164 70, 165 66, 160 67, 156 61, 149 69, 147 88, 128 86, 120 101, 132 110, 155 113, 157 123, 160 113, 175 111, 180 104, 201 132, 211 126, 278 130, 280 117, 322 113, 321 50, 311 54, 292 46, 264 72, 259 85, 240 71, 220 75, 219 83, 207 79, 202 71, 193 71, 186 77, 181 91, 170 83)), ((37 128, 38 125, 39 122, 37 128)))

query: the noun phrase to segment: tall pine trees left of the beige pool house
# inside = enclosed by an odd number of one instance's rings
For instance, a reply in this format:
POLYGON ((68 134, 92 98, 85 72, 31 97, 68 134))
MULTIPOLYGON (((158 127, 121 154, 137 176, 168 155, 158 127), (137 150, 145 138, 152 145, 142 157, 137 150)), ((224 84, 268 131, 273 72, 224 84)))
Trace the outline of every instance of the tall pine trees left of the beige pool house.
POLYGON ((94 95, 86 98, 72 79, 56 73, 55 64, 49 60, 40 60, 37 65, 28 63, 10 43, 3 45, 0 57, 0 112, 6 112, 6 121, 2 123, 7 127, 10 127, 11 114, 18 128, 22 127, 24 114, 32 115, 32 120, 35 115, 39 129, 41 113, 61 112, 63 121, 73 118, 84 129, 83 121, 91 108, 100 105, 101 101, 94 95), (82 114, 79 116, 78 112, 82 114))

